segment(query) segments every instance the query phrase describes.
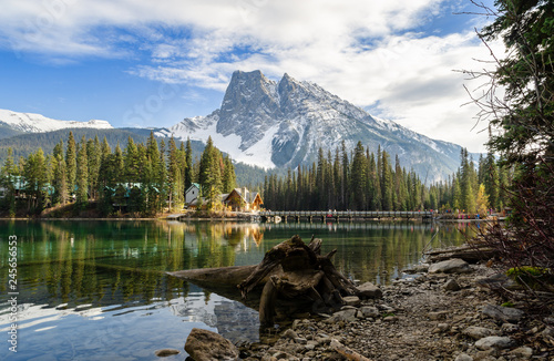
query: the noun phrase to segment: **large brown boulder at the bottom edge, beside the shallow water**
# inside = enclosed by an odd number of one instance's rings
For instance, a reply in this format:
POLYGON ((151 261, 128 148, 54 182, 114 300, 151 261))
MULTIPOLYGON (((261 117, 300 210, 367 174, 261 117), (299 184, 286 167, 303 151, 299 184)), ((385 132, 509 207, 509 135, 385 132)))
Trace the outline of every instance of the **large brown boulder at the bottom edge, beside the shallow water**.
POLYGON ((185 342, 185 351, 195 361, 238 360, 237 348, 215 332, 194 328, 185 342))

